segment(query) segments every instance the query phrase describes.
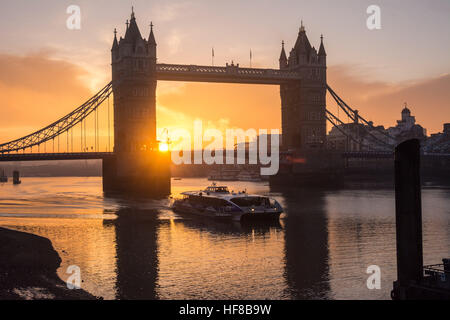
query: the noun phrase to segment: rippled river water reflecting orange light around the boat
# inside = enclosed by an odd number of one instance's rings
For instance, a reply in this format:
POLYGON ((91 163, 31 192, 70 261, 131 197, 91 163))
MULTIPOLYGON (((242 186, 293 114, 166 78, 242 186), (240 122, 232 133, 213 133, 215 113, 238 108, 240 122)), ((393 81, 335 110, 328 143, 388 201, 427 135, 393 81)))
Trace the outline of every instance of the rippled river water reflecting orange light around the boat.
MULTIPOLYGON (((206 179, 172 181, 176 196, 206 179)), ((270 190, 279 223, 242 225, 170 210, 170 199, 107 198, 101 178, 22 178, 0 184, 0 226, 49 238, 58 275, 81 270, 105 299, 389 299, 396 279, 392 190, 270 190), (381 289, 367 288, 367 267, 381 289)), ((424 263, 450 256, 450 190, 422 192, 424 263)))

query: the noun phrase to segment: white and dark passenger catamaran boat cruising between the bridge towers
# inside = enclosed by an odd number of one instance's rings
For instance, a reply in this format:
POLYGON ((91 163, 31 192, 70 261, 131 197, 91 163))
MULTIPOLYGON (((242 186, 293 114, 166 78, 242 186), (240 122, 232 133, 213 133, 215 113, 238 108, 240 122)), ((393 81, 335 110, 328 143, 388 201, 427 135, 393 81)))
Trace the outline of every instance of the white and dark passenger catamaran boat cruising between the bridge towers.
POLYGON ((271 220, 280 218, 283 208, 272 198, 248 194, 247 191, 230 192, 226 186, 213 183, 204 190, 183 192, 172 209, 176 213, 194 214, 234 221, 271 220))

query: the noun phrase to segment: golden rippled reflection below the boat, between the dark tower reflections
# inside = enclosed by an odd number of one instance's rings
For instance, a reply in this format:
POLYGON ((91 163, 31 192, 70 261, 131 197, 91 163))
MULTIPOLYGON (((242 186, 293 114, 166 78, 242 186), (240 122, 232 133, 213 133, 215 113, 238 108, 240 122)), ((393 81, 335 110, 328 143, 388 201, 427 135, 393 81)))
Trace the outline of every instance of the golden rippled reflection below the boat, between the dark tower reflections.
POLYGON ((277 226, 171 220, 158 230, 158 261, 162 299, 282 298, 286 286, 280 270, 284 237, 277 226))

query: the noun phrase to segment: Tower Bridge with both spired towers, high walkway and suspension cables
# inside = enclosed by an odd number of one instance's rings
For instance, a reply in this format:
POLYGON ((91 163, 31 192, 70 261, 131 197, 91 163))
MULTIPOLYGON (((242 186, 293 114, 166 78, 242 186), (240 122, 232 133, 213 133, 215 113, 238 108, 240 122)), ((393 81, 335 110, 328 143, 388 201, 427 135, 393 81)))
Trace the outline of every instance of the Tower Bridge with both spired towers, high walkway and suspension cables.
POLYGON ((326 109, 327 91, 353 121, 366 121, 327 86, 326 57, 323 37, 317 50, 311 45, 302 23, 289 55, 282 43, 279 69, 243 68, 234 63, 226 66, 157 63, 153 24, 148 37, 142 37, 132 12, 124 37, 118 39, 114 30, 112 81, 73 112, 47 127, 0 144, 0 161, 102 159, 105 191, 169 194, 170 154, 158 152, 156 137, 159 80, 278 85, 282 148, 302 153, 324 150, 326 121, 335 126, 341 121, 326 109), (109 119, 111 95, 114 141, 113 147, 109 147, 108 120, 108 148, 103 152, 99 147, 98 111, 107 101, 109 119), (86 141, 88 117, 95 119, 95 147, 90 148, 86 141), (80 128, 79 150, 74 150, 75 127, 80 128), (55 153, 55 141, 59 150, 60 139, 66 141, 65 152, 55 153), (46 152, 48 143, 53 143, 52 152, 46 152), (25 152, 29 150, 32 152, 25 152))

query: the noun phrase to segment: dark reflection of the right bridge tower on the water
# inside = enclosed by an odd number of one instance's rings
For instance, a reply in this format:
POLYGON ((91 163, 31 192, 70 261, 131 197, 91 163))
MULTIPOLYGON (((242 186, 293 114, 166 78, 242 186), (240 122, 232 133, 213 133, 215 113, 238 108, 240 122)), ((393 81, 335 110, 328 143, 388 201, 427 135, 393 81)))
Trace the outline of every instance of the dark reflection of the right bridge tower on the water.
POLYGON ((285 273, 294 299, 327 298, 328 230, 324 192, 283 191, 288 212, 285 227, 285 273))

